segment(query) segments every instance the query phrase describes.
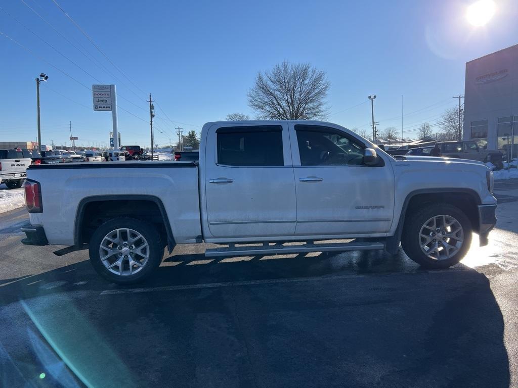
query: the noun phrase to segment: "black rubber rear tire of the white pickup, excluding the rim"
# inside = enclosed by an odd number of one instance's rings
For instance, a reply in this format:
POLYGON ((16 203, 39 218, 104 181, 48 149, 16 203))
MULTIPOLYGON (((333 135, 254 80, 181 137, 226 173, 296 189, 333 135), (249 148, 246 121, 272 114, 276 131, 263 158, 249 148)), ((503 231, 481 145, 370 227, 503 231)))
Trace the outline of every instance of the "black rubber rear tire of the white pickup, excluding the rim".
POLYGON ((94 270, 104 279, 117 284, 132 284, 148 278, 157 267, 160 266, 164 256, 164 247, 160 233, 151 223, 135 218, 121 217, 106 221, 97 228, 90 239, 89 246, 90 262, 94 270), (100 259, 100 245, 105 236, 116 229, 132 229, 146 239, 149 247, 149 258, 146 264, 133 275, 117 275, 108 270, 100 259))

